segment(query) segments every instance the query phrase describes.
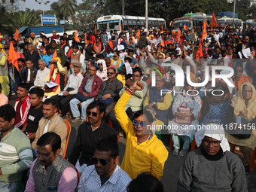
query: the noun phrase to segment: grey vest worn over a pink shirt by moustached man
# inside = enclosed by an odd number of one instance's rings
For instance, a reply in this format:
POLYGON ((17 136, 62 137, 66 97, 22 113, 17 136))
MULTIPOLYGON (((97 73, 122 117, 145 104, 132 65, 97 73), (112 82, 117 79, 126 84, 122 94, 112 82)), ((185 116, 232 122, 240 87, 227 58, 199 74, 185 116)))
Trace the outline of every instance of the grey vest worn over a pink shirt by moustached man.
POLYGON ((53 164, 47 167, 45 172, 39 160, 36 160, 32 170, 36 191, 57 191, 59 179, 64 170, 68 167, 73 168, 72 164, 60 155, 56 157, 53 164))

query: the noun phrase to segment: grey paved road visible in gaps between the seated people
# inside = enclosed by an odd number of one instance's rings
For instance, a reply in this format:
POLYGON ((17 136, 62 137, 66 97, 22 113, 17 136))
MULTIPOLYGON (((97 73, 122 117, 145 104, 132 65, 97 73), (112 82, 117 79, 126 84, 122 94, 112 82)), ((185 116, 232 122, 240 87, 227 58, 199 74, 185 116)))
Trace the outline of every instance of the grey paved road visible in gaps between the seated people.
MULTIPOLYGON (((15 99, 17 96, 12 96, 11 98, 11 105, 14 105, 15 99)), ((69 120, 70 122, 70 120, 69 120)), ((72 132, 69 138, 69 146, 67 150, 67 157, 71 153, 72 146, 75 144, 75 140, 78 134, 78 124, 71 123, 72 132)), ((167 150, 169 151, 169 157, 166 160, 164 169, 163 169, 163 177, 162 182, 166 192, 176 191, 177 190, 177 181, 178 181, 178 174, 179 169, 184 161, 184 157, 174 157, 172 156, 172 149, 169 149, 169 135, 161 135, 161 140, 163 144, 166 145, 167 150)), ((123 154, 125 151, 125 143, 126 140, 123 138, 119 139, 118 145, 120 148, 120 163, 122 162, 123 154)), ((246 175, 247 184, 248 184, 248 191, 249 192, 256 192, 256 165, 254 171, 252 171, 249 175, 246 175)))

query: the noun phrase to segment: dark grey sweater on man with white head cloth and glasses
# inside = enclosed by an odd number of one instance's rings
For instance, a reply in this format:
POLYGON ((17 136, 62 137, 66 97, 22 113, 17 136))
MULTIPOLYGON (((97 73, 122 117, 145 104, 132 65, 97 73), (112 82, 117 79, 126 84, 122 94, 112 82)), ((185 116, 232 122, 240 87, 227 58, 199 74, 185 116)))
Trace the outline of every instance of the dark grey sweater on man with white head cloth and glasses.
POLYGON ((187 154, 178 178, 178 191, 247 191, 245 168, 236 154, 207 160, 197 149, 187 154))

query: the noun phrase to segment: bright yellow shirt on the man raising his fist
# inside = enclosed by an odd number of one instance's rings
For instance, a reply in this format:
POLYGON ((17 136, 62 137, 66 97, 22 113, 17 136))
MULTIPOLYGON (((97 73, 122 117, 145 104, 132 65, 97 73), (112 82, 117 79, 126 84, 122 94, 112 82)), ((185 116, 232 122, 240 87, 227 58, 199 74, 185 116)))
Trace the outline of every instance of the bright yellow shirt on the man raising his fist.
POLYGON ((133 122, 125 112, 126 103, 132 96, 126 92, 115 105, 114 112, 126 133, 126 149, 123 156, 121 168, 132 179, 136 178, 141 172, 151 172, 157 179, 163 175, 163 166, 168 157, 168 151, 157 136, 153 134, 148 141, 138 145, 136 133, 133 130, 133 122))

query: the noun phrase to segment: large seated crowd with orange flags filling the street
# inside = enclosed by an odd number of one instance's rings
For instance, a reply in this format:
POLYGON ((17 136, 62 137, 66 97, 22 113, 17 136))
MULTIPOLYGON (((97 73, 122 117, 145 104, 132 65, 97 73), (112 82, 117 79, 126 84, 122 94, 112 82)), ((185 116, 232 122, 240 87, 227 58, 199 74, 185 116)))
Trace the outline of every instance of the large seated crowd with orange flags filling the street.
POLYGON ((256 147, 256 32, 218 28, 201 38, 200 29, 2 38, 0 188, 14 191, 30 168, 25 191, 163 191, 167 126, 177 128, 168 130, 172 155, 186 156, 178 191, 247 191, 256 147), (169 63, 183 69, 184 86, 176 86, 169 63), (220 78, 229 72, 214 66, 233 69, 234 87, 220 78), (63 158, 67 120, 80 126, 63 158), (187 154, 194 139, 198 148, 187 154))

